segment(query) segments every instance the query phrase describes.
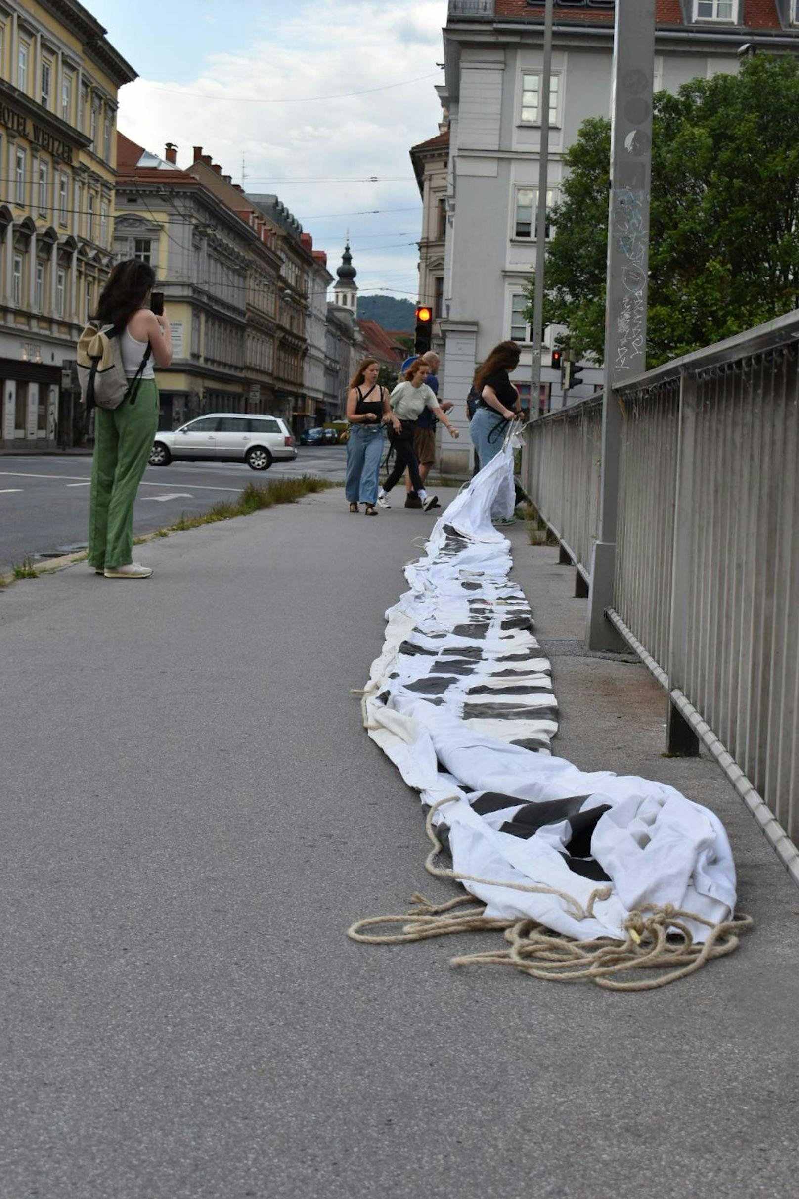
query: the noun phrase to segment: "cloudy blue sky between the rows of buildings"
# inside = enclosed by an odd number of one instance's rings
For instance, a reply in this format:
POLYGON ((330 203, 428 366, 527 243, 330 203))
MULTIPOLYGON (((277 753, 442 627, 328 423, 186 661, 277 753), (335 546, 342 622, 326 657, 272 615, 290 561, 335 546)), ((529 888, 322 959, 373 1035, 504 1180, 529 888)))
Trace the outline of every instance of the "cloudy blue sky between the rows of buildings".
POLYGON ((416 299, 408 147, 438 132, 447 0, 84 4, 139 72, 123 133, 162 157, 175 141, 178 165, 201 145, 235 183, 243 159, 247 191, 277 192, 333 271, 349 229, 361 290, 416 299))

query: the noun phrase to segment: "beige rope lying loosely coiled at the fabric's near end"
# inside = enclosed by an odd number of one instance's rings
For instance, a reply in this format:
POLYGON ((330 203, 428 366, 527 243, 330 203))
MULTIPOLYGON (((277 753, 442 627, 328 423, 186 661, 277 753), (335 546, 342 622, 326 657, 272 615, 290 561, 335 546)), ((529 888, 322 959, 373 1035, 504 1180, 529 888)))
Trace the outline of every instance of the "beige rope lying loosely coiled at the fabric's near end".
MULTIPOLYGON (((583 908, 574 896, 557 887, 482 879, 437 866, 436 858, 443 846, 432 820, 444 803, 452 803, 458 799, 459 796, 453 795, 438 800, 428 812, 425 829, 432 849, 424 864, 430 874, 458 882, 479 882, 513 891, 557 896, 567 904, 569 915, 577 921, 592 917, 594 903, 612 894, 610 886, 597 887, 583 908)), ((677 982, 678 978, 685 978, 714 958, 732 953, 738 947, 739 934, 752 927, 751 917, 743 914, 736 914, 732 920, 714 924, 696 912, 666 904, 631 911, 624 921, 624 941, 610 938, 574 941, 528 916, 504 920, 485 916, 485 909, 486 904, 468 894, 442 904, 431 904, 417 892, 411 897, 411 906, 404 915, 369 916, 358 920, 347 930, 347 936, 365 945, 407 945, 455 933, 503 932, 508 948, 454 957, 450 958, 450 965, 513 966, 533 978, 551 982, 593 982, 606 990, 654 990, 677 982), (466 904, 470 905, 467 910, 456 911, 466 904), (689 920, 710 930, 702 944, 694 941, 685 923, 689 920), (398 933, 367 932, 386 924, 400 924, 401 929, 398 933), (638 971, 654 971, 654 974, 641 977, 638 971), (630 972, 635 972, 634 977, 624 977, 630 972)))

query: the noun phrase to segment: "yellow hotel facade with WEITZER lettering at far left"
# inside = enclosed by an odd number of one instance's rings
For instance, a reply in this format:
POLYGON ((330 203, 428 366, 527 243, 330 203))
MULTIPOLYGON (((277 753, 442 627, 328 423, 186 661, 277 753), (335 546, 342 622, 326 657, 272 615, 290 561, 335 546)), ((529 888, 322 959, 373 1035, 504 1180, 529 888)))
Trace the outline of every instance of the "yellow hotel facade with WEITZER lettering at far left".
POLYGON ((0 450, 80 440, 71 363, 113 265, 119 89, 74 0, 0 0, 0 450))

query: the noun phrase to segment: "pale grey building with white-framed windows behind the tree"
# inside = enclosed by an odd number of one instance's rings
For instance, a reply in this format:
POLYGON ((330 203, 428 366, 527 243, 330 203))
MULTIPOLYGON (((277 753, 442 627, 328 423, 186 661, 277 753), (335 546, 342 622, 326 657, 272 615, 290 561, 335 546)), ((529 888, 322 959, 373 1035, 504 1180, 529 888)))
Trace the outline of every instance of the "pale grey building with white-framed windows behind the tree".
MULTIPOLYGON (((555 0, 547 200, 564 177, 563 155, 589 116, 610 118, 613 0, 555 0)), ((442 393, 464 400, 476 366, 497 342, 521 348, 514 382, 529 398, 531 329, 523 319, 527 281, 535 270, 544 0, 449 0, 443 31, 449 115, 449 163, 443 270, 442 393)), ((776 53, 799 50, 799 5, 781 0, 659 0, 654 88, 738 70, 749 43, 776 53), (746 24, 746 22, 753 24, 746 24)), ((546 235, 546 231, 545 231, 546 235)), ((562 404, 551 369, 552 330, 543 353, 543 402, 562 404)), ((586 369, 569 399, 601 382, 586 369)), ((534 406, 534 405, 533 405, 534 406)), ((442 470, 466 465, 464 439, 442 444, 442 470)))

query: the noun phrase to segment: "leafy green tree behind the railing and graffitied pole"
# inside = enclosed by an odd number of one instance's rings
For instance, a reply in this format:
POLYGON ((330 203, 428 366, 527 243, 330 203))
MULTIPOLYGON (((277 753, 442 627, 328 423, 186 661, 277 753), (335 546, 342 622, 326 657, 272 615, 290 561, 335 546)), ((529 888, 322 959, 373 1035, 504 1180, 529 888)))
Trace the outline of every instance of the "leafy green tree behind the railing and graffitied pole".
MULTIPOLYGON (((756 54, 737 76, 655 96, 649 366, 799 305, 798 110, 799 65, 787 55, 756 54)), ((544 323, 567 325, 564 344, 601 360, 610 122, 585 121, 564 158, 544 323)))

